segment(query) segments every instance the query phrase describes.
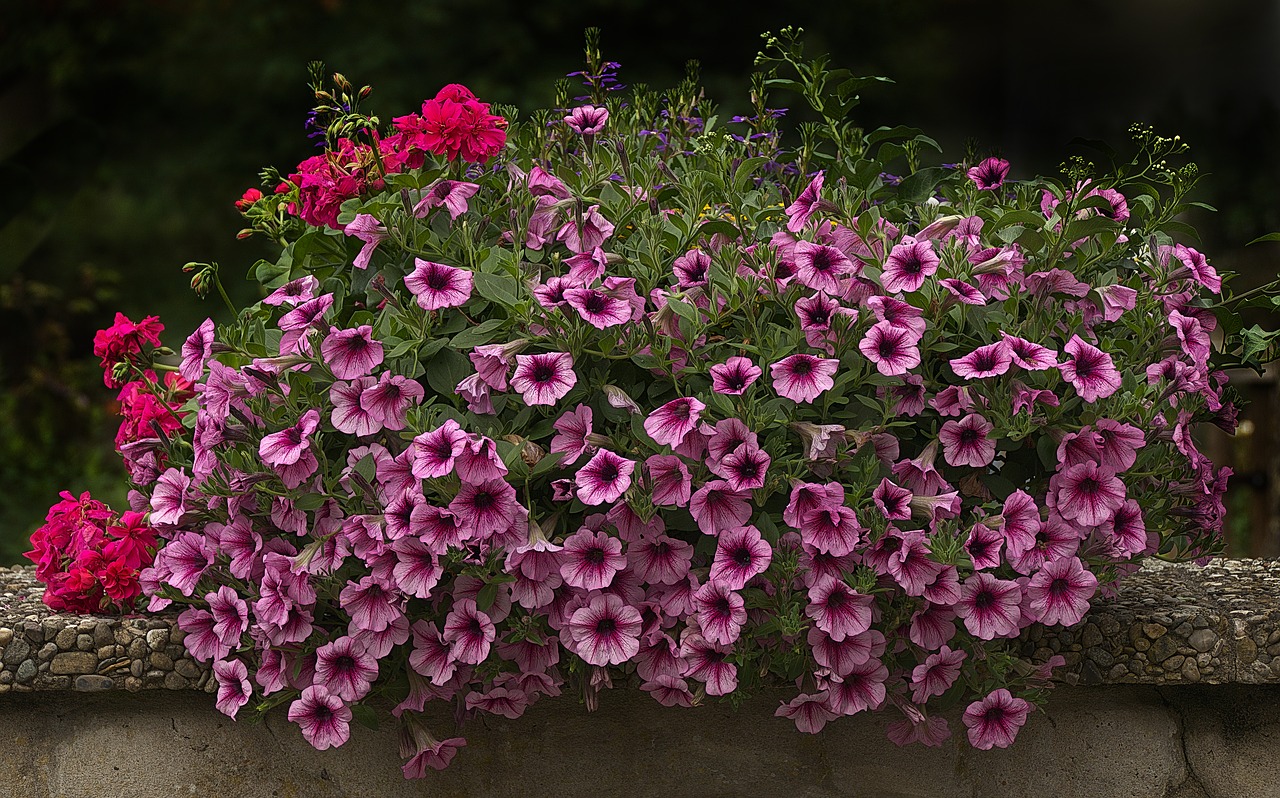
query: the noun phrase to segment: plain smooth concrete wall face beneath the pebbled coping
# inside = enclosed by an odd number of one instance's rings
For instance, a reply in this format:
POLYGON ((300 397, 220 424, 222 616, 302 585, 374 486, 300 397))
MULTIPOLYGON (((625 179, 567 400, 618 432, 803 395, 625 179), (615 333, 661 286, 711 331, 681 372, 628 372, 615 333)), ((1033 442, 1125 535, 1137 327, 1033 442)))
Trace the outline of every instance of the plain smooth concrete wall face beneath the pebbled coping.
POLYGON ((878 716, 800 734, 773 716, 783 696, 682 710, 618 689, 596 712, 547 698, 470 722, 448 770, 406 781, 393 725, 319 752, 282 710, 236 722, 195 690, 10 693, 0 797, 1280 798, 1275 685, 1064 687, 991 752, 897 748, 878 716))

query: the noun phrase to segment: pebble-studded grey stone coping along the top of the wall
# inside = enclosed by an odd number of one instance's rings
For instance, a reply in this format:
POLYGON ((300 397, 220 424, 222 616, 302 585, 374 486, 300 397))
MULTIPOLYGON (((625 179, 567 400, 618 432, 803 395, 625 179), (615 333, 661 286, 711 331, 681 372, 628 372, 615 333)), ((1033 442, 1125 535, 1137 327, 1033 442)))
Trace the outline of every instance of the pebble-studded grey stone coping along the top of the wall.
MULTIPOLYGON (((33 567, 0 567, 0 693, 216 689, 177 612, 63 615, 42 594, 33 567)), ((1280 683, 1280 561, 1147 562, 1083 625, 1034 628, 1018 644, 1062 655, 1069 684, 1280 683)))

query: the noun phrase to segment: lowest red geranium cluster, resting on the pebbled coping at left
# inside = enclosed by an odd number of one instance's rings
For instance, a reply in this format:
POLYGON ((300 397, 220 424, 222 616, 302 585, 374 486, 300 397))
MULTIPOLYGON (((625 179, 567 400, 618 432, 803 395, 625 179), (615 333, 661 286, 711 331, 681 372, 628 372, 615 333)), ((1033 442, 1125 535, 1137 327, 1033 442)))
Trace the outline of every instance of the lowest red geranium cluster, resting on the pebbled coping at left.
POLYGON ((45 583, 45 603, 67 612, 132 610, 142 594, 138 573, 155 558, 156 533, 146 514, 118 516, 88 492, 61 497, 23 555, 45 583))

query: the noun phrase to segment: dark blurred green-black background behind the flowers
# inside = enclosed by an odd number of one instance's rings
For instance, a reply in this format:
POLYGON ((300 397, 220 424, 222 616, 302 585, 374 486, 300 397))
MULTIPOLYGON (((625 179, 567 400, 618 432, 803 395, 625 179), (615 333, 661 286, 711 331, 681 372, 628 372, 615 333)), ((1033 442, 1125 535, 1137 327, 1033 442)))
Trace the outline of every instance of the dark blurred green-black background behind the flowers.
MULTIPOLYGON (((781 5, 781 4, 780 4, 781 5)), ((896 83, 859 122, 911 124, 947 159, 966 146, 1056 174, 1078 137, 1124 150, 1143 122, 1179 134, 1206 173, 1188 219, 1239 288, 1275 278, 1280 245, 1280 4, 1274 0, 961 3, 846 0, 745 13, 741 4, 648 0, 8 0, 0 14, 0 562, 18 560, 58 491, 123 506, 111 451, 114 392, 91 355, 116 310, 156 314, 177 347, 212 301, 187 261, 218 261, 236 298, 257 257, 232 202, 262 167, 314 152, 307 61, 371 85, 383 119, 444 83, 522 110, 553 102, 582 65, 584 29, 625 83, 667 88, 701 64, 721 118, 749 110, 759 35, 805 28, 812 54, 896 83)), ((778 97, 776 105, 792 102, 778 97)), ((1096 154, 1084 151, 1098 159, 1096 154)), ((1101 160, 1100 160, 1101 163, 1101 160)), ((1249 375, 1242 375, 1248 378, 1249 375)), ((1231 552, 1280 555, 1270 374, 1235 438, 1207 438, 1238 476, 1231 552)))

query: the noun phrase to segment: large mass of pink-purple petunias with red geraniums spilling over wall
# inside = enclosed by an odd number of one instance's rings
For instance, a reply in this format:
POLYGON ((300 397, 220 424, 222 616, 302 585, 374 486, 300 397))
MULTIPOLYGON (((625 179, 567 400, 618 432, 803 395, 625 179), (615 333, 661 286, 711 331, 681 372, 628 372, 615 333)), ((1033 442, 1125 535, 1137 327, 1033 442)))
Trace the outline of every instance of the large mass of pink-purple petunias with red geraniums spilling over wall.
POLYGON ((1234 427, 1220 366, 1270 333, 1180 242, 1184 145, 924 165, 922 132, 847 119, 874 78, 767 44, 730 122, 692 74, 626 91, 593 37, 586 95, 518 122, 452 85, 384 128, 317 83, 323 152, 237 202, 282 245, 264 298, 142 383, 180 428, 122 447, 148 607, 186 606, 219 708, 288 704, 328 748, 389 698, 407 776, 465 744, 428 701, 620 683, 795 685, 803 731, 888 710, 931 745, 966 707, 1004 747, 1064 664, 1024 629, 1221 550, 1192 432, 1234 427), (773 91, 818 119, 797 146, 773 91))

